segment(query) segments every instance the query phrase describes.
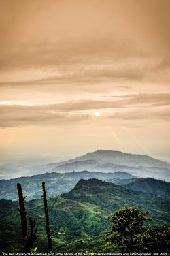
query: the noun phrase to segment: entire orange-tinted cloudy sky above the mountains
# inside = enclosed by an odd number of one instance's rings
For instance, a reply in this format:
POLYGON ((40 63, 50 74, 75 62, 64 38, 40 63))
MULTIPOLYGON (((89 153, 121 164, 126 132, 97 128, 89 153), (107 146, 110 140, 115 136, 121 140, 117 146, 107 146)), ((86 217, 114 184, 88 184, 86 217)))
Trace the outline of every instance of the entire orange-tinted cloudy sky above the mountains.
POLYGON ((170 161, 169 0, 0 0, 0 152, 170 161))

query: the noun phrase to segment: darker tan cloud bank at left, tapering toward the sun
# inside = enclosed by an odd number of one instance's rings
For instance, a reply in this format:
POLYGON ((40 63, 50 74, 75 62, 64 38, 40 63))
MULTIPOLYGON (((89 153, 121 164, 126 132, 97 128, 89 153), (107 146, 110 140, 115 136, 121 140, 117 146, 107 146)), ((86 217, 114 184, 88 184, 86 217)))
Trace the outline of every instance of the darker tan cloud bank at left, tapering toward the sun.
POLYGON ((89 114, 71 114, 68 112, 55 112, 50 108, 33 106, 12 106, 0 108, 1 127, 18 127, 25 125, 73 125, 88 121, 89 114))

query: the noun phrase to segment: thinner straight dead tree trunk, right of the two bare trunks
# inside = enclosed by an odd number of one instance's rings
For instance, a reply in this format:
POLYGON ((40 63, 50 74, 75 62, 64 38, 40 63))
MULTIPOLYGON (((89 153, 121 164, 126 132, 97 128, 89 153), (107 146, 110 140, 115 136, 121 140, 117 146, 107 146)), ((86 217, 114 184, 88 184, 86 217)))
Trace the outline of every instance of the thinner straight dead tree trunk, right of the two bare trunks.
POLYGON ((42 187, 43 187, 44 212, 45 212, 45 217, 46 217, 46 233, 47 233, 47 238, 48 238, 48 251, 52 251, 52 240, 51 240, 51 232, 50 232, 50 224, 49 224, 45 182, 42 182, 42 187))

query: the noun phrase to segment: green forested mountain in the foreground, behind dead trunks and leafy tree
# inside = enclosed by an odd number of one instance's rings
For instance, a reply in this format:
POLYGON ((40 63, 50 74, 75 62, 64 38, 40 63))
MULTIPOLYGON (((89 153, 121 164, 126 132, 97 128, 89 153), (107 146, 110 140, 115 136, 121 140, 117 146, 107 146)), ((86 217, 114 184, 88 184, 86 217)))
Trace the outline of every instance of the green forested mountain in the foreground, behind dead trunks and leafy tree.
MULTIPOLYGON (((150 182, 150 181, 149 181, 150 182)), ((46 186, 47 192, 50 187, 46 186)), ((108 216, 123 206, 149 210, 152 224, 170 223, 170 200, 151 193, 132 191, 97 179, 81 179, 68 193, 48 198, 52 244, 55 252, 102 251, 108 216)), ((27 217, 36 219, 38 252, 47 251, 41 199, 26 201, 27 217)), ((22 246, 18 203, 0 200, 1 251, 18 251, 22 246)))

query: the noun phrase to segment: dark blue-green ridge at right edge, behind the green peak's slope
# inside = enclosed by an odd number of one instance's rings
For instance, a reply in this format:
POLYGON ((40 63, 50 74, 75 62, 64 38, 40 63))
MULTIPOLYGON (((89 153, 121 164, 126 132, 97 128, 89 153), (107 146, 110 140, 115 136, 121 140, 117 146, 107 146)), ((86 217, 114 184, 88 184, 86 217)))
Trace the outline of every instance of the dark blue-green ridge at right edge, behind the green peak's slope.
POLYGON ((142 191, 161 197, 170 198, 170 183, 162 180, 154 180, 153 178, 139 178, 139 180, 135 180, 129 185, 124 185, 123 187, 133 191, 142 191))

